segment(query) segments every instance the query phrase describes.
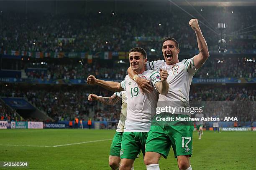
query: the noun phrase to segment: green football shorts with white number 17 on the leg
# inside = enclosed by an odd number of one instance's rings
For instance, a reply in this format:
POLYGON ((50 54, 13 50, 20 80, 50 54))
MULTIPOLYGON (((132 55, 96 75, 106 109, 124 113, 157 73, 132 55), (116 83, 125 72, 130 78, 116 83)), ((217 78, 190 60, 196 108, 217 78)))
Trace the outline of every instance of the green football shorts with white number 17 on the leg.
POLYGON ((192 155, 193 122, 175 121, 175 117, 189 116, 170 113, 155 115, 146 140, 146 152, 160 153, 167 158, 172 146, 175 158, 179 155, 192 155), (160 117, 174 117, 174 121, 160 121, 160 117))

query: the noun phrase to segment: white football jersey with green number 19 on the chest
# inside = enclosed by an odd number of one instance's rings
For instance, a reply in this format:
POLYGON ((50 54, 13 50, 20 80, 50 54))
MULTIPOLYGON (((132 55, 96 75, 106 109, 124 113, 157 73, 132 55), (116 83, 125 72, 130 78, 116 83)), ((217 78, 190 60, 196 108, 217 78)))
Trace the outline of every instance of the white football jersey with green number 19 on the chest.
MULTIPOLYGON (((155 87, 155 83, 161 81, 160 74, 154 70, 146 70, 138 75, 141 78, 149 80, 155 87)), ((120 82, 120 85, 126 91, 127 95, 127 117, 125 120, 125 132, 148 132, 151 125, 151 119, 156 114, 156 105, 159 97, 156 87, 153 92, 142 94, 137 83, 129 75, 120 82)))

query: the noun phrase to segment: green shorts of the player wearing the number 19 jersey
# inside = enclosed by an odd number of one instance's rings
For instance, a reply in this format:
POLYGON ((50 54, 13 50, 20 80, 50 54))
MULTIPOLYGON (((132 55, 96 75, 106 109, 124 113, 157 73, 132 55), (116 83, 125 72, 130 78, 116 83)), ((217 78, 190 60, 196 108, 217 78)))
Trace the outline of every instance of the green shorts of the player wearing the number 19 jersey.
POLYGON ((120 150, 121 159, 138 158, 140 151, 145 155, 145 144, 148 132, 124 132, 120 150))

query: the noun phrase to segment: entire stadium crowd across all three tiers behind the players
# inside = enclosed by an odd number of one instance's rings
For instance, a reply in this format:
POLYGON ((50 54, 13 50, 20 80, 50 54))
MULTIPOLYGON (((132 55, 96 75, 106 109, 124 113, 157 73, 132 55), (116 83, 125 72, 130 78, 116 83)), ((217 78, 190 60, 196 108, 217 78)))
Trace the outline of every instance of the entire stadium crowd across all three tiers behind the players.
MULTIPOLYGON (((207 10, 205 7, 201 10, 201 14, 204 18, 211 18, 208 20, 209 23, 208 21, 205 22, 202 16, 195 14, 196 18, 208 25, 205 27, 205 25, 200 24, 200 27, 209 51, 218 49, 218 40, 220 39, 220 31, 217 29, 218 23, 225 23, 226 25, 223 35, 228 49, 256 48, 255 33, 250 32, 253 28, 246 30, 250 34, 235 32, 247 28, 254 22, 253 16, 256 16, 256 10, 248 7, 246 10, 243 10, 243 7, 233 7, 232 10, 235 12, 231 13, 231 8, 214 7, 207 10)), ((195 11, 190 12, 195 13, 195 11)), ((190 19, 178 8, 173 8, 168 12, 151 11, 140 14, 117 13, 115 15, 96 12, 80 15, 4 13, 1 14, 0 20, 2 23, 0 45, 7 51, 29 52, 120 52, 139 46, 146 50, 154 49, 161 56, 160 40, 166 35, 178 40, 181 52, 198 49, 195 34, 188 26, 190 19)), ((248 62, 244 57, 237 58, 237 60, 210 57, 195 74, 195 77, 255 78, 255 59, 253 61, 248 62)), ((37 69, 33 69, 30 64, 24 66, 29 78, 66 80, 86 79, 92 71, 97 78, 122 80, 127 74, 128 67, 128 64, 118 65, 113 69, 113 67, 100 65, 97 60, 92 64, 85 62, 83 64, 48 63, 44 67, 37 67, 37 69)), ((94 87, 86 90, 75 87, 72 87, 71 90, 20 90, 18 87, 1 87, 0 96, 25 97, 54 120, 73 120, 75 115, 85 120, 90 116, 90 113, 92 113, 94 120, 118 120, 120 105, 107 106, 98 102, 88 102, 87 96, 90 93, 102 96, 113 94, 94 87)), ((252 87, 192 86, 189 100, 255 101, 255 96, 256 90, 252 87)), ((0 114, 4 119, 16 119, 15 111, 10 111, 5 105, 1 105, 0 114)))

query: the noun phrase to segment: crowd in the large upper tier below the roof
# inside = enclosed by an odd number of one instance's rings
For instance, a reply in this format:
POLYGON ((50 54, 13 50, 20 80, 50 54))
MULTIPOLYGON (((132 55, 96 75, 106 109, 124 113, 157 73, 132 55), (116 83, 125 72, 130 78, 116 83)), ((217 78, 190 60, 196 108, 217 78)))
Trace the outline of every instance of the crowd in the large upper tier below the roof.
MULTIPOLYGON (((235 13, 231 13, 229 8, 215 7, 210 10, 205 8, 201 14, 204 18, 211 18, 210 23, 203 20, 195 11, 191 11, 195 13, 195 17, 208 25, 200 27, 207 40, 209 51, 218 49, 220 39, 218 23, 226 25, 223 35, 228 48, 255 49, 255 38, 252 37, 252 40, 248 41, 251 39, 250 36, 233 32, 250 26, 256 11, 253 8, 246 8, 246 11, 241 8, 232 10, 235 10, 235 13)), ((155 49, 161 53, 159 40, 168 34, 177 38, 183 52, 198 49, 195 35, 187 25, 190 19, 189 15, 180 13, 177 8, 168 12, 151 11, 115 15, 96 12, 81 15, 5 13, 2 14, 4 24, 0 28, 0 43, 3 42, 4 49, 8 51, 128 51, 132 47, 140 46, 145 49, 155 49)), ((253 32, 250 34, 253 35, 253 32)))

